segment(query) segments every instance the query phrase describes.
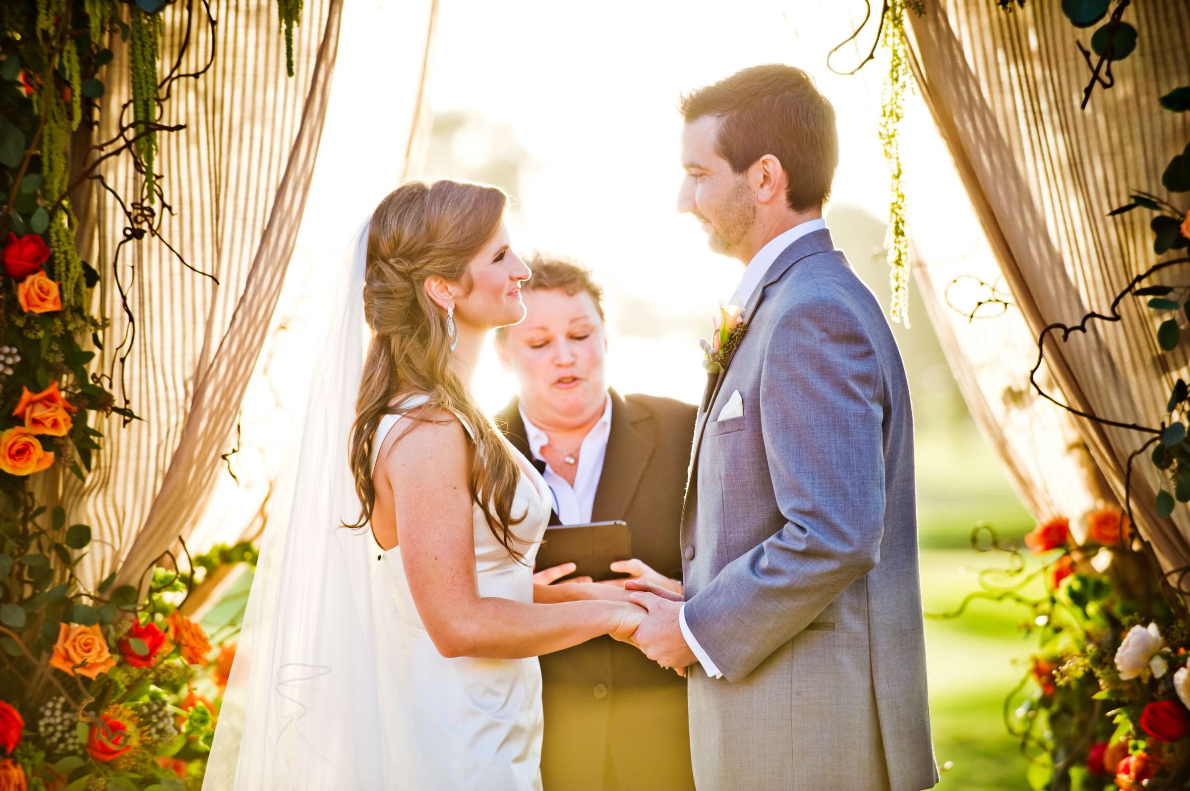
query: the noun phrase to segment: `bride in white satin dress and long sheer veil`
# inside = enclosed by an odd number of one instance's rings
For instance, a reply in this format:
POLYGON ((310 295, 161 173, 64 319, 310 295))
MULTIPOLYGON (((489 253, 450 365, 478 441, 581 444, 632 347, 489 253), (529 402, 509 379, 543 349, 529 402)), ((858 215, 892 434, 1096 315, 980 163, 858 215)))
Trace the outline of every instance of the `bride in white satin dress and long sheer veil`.
POLYGON ((525 318, 506 202, 403 184, 331 278, 203 789, 540 789, 538 654, 645 615, 533 584, 550 490, 470 391, 488 332, 525 318))

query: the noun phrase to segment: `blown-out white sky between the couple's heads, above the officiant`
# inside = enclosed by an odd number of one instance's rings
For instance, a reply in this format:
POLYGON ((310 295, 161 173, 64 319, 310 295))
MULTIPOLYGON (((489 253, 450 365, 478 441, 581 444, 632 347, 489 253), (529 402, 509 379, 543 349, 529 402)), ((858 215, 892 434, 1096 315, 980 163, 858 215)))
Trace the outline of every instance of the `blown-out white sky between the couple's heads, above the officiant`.
MULTIPOLYGON (((576 257, 607 287, 609 378, 621 391, 695 400, 701 351, 694 325, 678 319, 709 324, 743 271, 710 253, 697 222, 675 209, 682 92, 757 63, 807 69, 838 113, 835 202, 887 213, 878 95, 825 65, 850 32, 848 5, 862 14, 862 4, 828 0, 443 4, 433 111, 507 126, 528 152, 513 244, 576 257)), ((837 57, 837 68, 856 62, 850 49, 837 57)), ((881 65, 870 64, 872 76, 881 65)), ((490 145, 476 136, 456 144, 464 162, 490 145)), ((499 408, 513 387, 489 356, 476 377, 483 406, 499 408)))

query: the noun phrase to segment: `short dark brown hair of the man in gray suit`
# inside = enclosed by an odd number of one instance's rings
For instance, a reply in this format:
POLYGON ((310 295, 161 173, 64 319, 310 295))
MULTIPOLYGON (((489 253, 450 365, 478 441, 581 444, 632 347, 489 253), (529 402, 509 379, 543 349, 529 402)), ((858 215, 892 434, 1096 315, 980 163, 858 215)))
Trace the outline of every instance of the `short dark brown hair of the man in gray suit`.
POLYGON ((789 180, 794 211, 821 208, 839 164, 834 107, 814 79, 783 63, 753 65, 682 96, 687 124, 706 115, 721 120, 715 149, 737 174, 766 153, 789 180))

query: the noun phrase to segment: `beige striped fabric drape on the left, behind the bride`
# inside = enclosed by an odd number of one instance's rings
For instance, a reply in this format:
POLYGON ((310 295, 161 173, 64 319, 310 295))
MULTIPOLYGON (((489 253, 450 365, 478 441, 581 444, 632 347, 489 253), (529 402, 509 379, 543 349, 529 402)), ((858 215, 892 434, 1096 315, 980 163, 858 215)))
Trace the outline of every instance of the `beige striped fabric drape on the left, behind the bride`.
MULTIPOLYGON (((70 517, 90 523, 96 538, 84 582, 121 561, 120 582, 136 582, 192 527, 230 450, 302 215, 340 7, 342 0, 306 4, 292 79, 273 0, 212 2, 214 30, 202 4, 162 12, 158 76, 167 80, 175 63, 183 74, 209 68, 169 82, 159 120, 186 128, 158 136, 155 170, 169 205, 152 206, 164 212, 161 238, 121 246, 131 224, 108 193, 93 193, 93 260, 102 277, 95 312, 111 321, 93 371, 109 376, 117 404, 126 398, 144 420, 102 421, 93 473, 82 485, 68 479, 70 517)), ((115 136, 113 109, 130 95, 127 46, 114 40, 113 50, 99 140, 115 136)), ((100 174, 137 200, 140 178, 126 157, 108 159, 100 174)))

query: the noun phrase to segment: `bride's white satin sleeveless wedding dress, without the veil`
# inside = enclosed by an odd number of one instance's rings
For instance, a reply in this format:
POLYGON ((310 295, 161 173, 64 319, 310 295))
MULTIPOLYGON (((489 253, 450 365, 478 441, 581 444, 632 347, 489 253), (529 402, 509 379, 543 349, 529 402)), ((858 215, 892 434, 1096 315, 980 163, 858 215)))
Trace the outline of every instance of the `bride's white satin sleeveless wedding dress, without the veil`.
MULTIPOLYGON (((384 438, 401 420, 384 415, 376 427, 374 469, 384 438)), ((475 571, 480 596, 532 602, 532 564, 550 521, 550 490, 537 470, 508 447, 521 469, 512 514, 526 515, 512 528, 521 541, 514 546, 528 565, 509 557, 475 506, 475 571)), ((418 615, 401 547, 384 552, 375 538, 365 546, 371 554, 376 695, 383 726, 378 759, 387 764, 384 774, 400 778, 407 789, 539 791, 544 721, 537 657, 443 657, 418 615)))

